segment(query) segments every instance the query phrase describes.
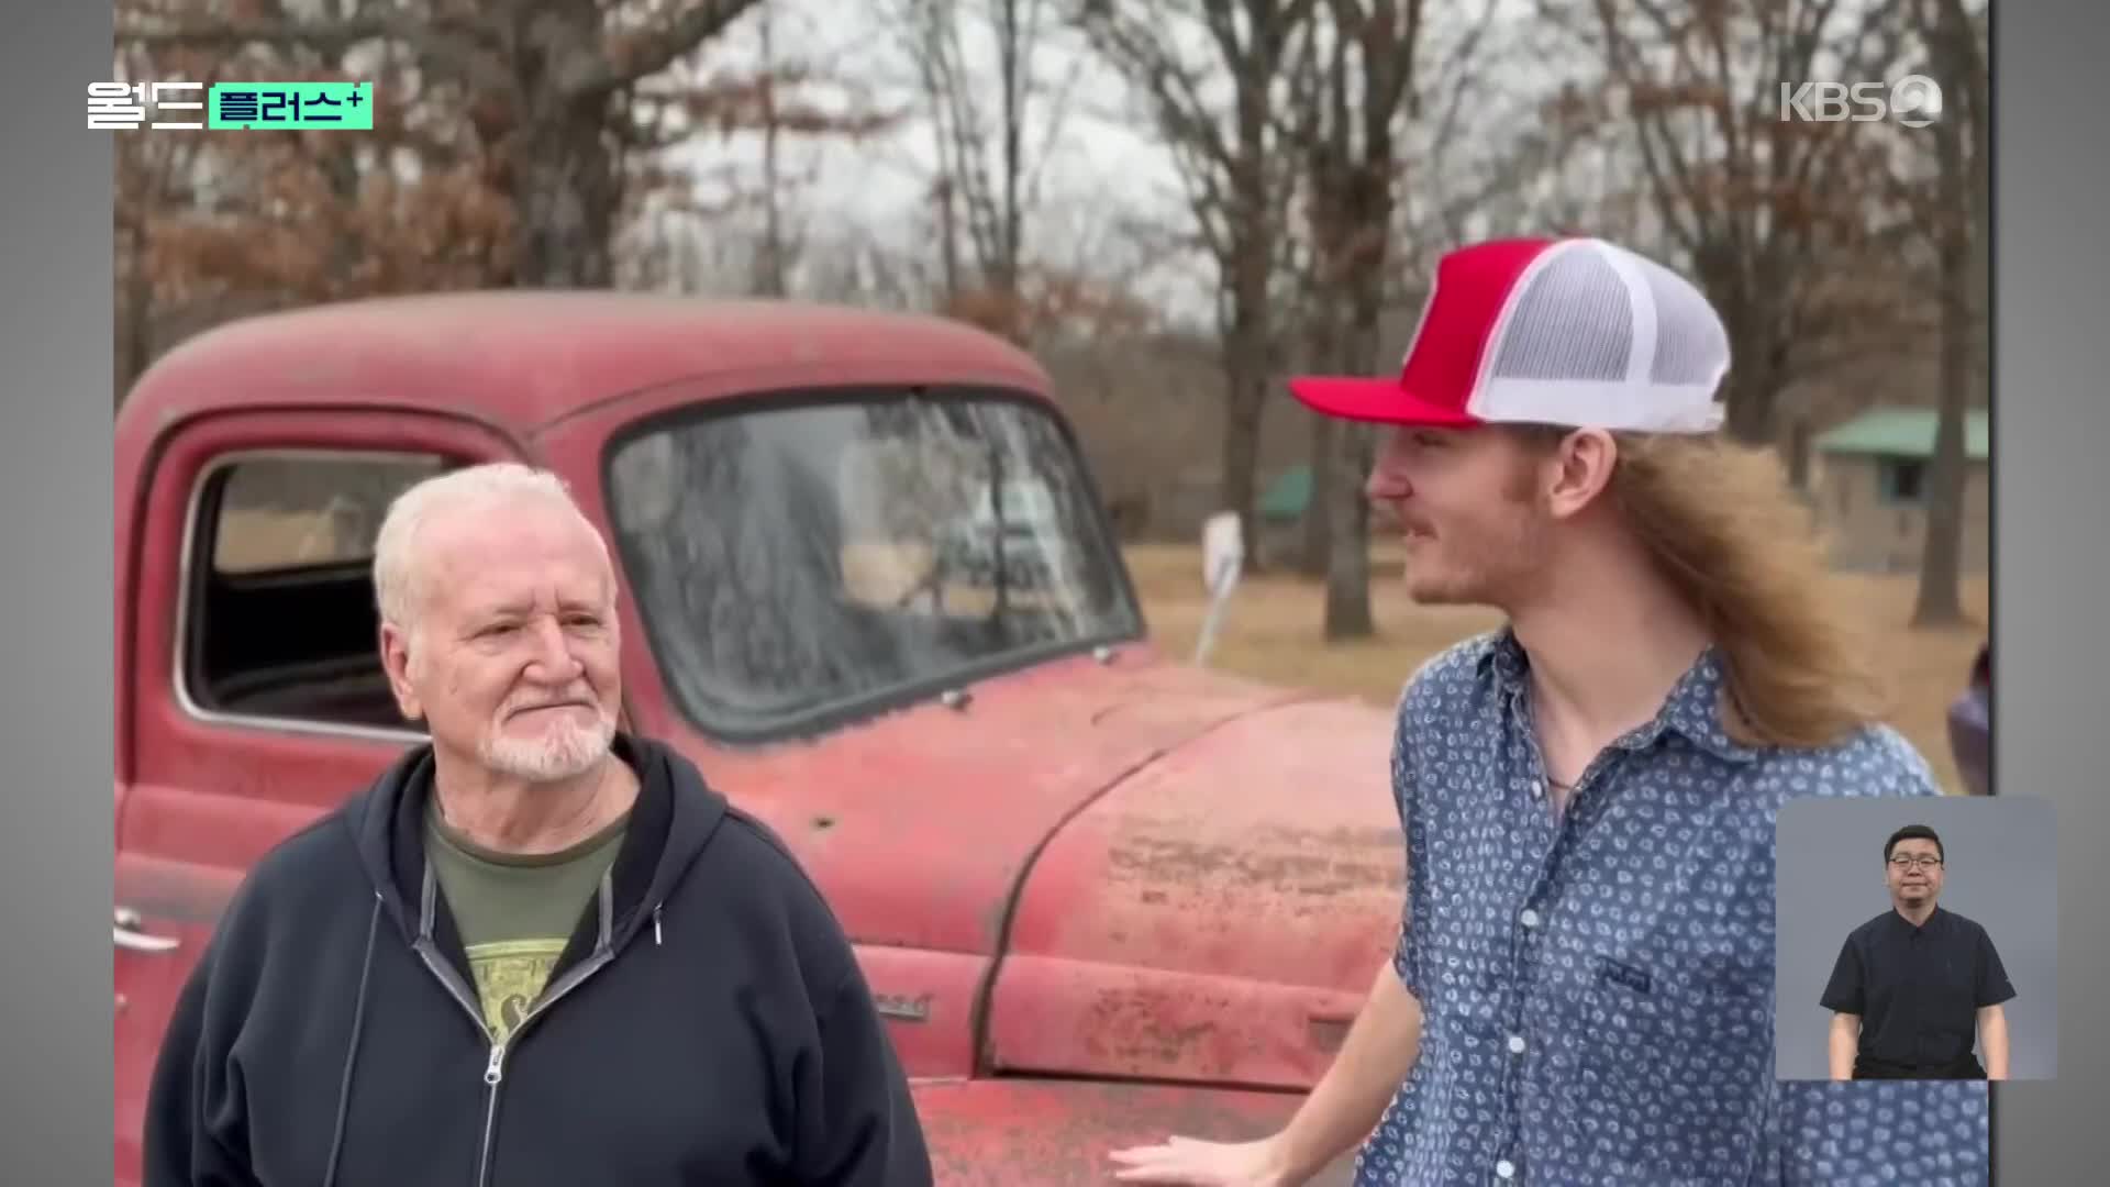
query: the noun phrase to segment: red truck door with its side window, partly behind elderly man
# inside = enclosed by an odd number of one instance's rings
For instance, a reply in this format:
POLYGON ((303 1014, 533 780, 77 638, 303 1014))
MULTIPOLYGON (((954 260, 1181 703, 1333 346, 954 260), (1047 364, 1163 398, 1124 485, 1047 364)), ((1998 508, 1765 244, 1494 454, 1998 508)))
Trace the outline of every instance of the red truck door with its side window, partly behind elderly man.
MULTIPOLYGON (((116 1181, 139 1181, 169 1010, 266 849, 422 739, 395 710, 369 577, 388 501, 517 458, 437 412, 230 412, 152 452, 120 558, 133 781, 116 836, 116 1181)), ((122 720, 120 718, 120 720, 122 720)))

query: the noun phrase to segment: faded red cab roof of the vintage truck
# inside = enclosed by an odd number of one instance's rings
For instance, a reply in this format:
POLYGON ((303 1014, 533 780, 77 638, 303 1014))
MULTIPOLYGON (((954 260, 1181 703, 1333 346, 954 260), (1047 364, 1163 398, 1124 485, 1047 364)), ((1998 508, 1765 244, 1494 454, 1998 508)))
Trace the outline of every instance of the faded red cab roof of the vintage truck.
POLYGON ((625 291, 460 291, 388 296, 234 321, 169 351, 141 376, 120 425, 167 425, 228 408, 314 397, 340 408, 447 408, 511 437, 565 414, 673 380, 886 365, 893 374, 962 376, 1047 397, 1028 355, 933 315, 789 300, 707 300, 625 291), (228 384, 230 374, 270 376, 228 384))

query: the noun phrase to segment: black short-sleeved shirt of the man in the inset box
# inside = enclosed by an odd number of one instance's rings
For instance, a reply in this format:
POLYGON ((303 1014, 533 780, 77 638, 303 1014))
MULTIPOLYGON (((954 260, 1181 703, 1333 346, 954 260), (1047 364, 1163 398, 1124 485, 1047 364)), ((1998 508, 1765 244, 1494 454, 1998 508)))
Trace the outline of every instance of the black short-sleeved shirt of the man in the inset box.
POLYGON ((1969 1056, 1977 1012, 2011 997, 1986 929, 1937 906, 1918 927, 1897 910, 1855 927, 1823 1007, 1861 1016, 1859 1058, 1935 1069, 1969 1056))

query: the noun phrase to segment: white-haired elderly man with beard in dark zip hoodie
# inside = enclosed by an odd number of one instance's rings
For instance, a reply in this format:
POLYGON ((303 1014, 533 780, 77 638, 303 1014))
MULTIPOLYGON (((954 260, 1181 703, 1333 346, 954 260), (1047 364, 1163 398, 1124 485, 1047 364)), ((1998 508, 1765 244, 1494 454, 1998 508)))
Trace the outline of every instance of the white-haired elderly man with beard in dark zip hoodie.
POLYGON ((791 855, 618 731, 616 579, 561 482, 376 545, 414 748, 249 874, 177 1003, 146 1185, 922 1185, 907 1084, 791 855))

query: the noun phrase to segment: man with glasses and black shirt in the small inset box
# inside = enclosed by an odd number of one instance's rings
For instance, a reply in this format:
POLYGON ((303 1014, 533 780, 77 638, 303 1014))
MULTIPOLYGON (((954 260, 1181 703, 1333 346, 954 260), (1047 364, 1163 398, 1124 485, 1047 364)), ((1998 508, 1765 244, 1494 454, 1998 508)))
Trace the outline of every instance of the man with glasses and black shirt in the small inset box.
POLYGON ((1884 843, 1891 910, 1846 936, 1825 984, 1831 1079, 2007 1079, 2015 986, 1986 927, 1939 906, 1945 858, 1924 824, 1884 843))

